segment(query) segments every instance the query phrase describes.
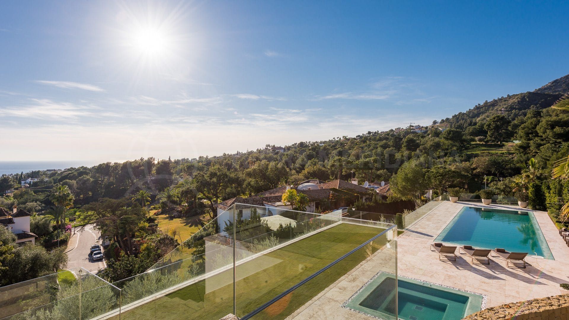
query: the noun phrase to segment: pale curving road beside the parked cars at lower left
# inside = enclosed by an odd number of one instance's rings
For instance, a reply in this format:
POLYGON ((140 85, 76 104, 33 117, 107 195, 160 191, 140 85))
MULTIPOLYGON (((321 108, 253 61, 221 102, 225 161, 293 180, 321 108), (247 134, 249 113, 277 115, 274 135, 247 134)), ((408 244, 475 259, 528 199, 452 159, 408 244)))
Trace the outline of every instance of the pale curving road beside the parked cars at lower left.
MULTIPOLYGON (((90 272, 96 273, 98 270, 105 268, 106 265, 103 260, 93 261, 90 255, 91 246, 93 244, 101 244, 101 233, 88 224, 85 225, 83 231, 79 231, 79 228, 77 228, 77 235, 79 235, 77 246, 73 249, 70 248, 71 251, 67 252, 67 269, 79 268, 81 266, 90 272)), ((71 239, 69 246, 75 246, 75 240, 71 239)))

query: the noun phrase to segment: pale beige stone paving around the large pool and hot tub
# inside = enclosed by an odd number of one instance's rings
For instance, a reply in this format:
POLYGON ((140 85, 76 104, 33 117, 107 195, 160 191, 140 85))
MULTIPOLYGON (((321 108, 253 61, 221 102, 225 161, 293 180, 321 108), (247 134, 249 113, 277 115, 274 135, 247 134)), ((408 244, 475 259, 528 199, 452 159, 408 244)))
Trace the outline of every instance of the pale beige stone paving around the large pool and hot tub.
MULTIPOLYGON (((492 257, 490 265, 472 265, 458 254, 457 261, 439 261, 430 244, 463 206, 520 210, 519 207, 468 202, 444 202, 417 221, 397 241, 398 274, 436 284, 484 294, 486 307, 569 293, 559 284, 569 282, 569 248, 546 212, 533 211, 555 260, 526 258, 526 269, 506 266, 492 257)), ((523 209, 523 211, 531 211, 523 209)), ((380 271, 393 273, 393 248, 376 253, 344 278, 324 290, 289 318, 294 319, 370 319, 340 305, 380 271)))

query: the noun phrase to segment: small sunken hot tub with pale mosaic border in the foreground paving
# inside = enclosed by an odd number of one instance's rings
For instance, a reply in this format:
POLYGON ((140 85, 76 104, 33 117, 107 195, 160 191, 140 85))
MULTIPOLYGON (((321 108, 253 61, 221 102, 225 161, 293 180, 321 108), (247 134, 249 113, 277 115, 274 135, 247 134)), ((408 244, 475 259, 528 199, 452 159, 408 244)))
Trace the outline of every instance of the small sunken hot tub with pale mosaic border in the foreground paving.
MULTIPOLYGON (((483 296, 407 277, 398 277, 398 316, 406 320, 459 320, 480 311, 483 296)), ((395 319, 395 276, 380 272, 344 307, 378 319, 395 319)))

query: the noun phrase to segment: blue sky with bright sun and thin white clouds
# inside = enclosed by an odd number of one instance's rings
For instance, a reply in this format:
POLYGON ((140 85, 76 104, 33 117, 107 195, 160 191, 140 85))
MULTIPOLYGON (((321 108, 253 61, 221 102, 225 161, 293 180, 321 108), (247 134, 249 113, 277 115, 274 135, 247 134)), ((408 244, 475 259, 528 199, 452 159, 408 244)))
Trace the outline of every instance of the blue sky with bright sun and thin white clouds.
POLYGON ((0 160, 192 158, 428 125, 569 73, 568 9, 3 3, 0 160))

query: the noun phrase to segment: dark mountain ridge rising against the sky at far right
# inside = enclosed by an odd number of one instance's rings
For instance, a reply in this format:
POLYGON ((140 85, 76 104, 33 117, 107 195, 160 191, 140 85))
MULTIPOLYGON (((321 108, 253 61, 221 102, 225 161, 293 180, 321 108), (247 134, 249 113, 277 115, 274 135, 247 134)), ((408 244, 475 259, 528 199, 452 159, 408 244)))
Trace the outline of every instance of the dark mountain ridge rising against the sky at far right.
POLYGON ((525 116, 527 110, 549 108, 565 93, 569 93, 569 75, 553 80, 531 92, 517 93, 492 101, 485 101, 466 112, 459 112, 450 118, 443 119, 441 123, 453 125, 457 129, 464 129, 475 124, 475 122, 484 122, 494 114, 503 114, 513 121, 519 116, 525 116))

